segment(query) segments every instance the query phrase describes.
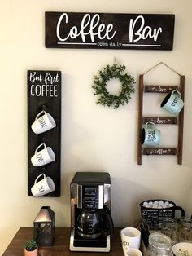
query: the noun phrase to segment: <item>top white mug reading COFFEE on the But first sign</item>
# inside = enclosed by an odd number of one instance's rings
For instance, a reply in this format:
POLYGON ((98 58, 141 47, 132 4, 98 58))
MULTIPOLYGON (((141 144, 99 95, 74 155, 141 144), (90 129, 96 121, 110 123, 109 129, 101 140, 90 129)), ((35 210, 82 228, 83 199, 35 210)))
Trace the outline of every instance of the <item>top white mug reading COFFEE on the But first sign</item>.
POLYGON ((50 130, 56 126, 55 120, 50 116, 49 113, 46 113, 45 110, 41 111, 35 117, 31 128, 35 134, 41 134, 47 130, 50 130))

